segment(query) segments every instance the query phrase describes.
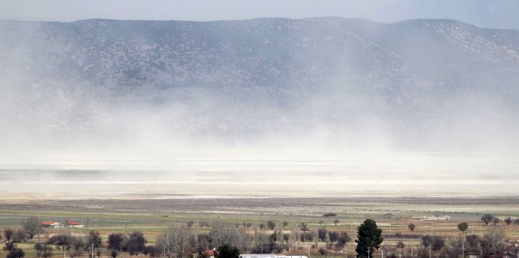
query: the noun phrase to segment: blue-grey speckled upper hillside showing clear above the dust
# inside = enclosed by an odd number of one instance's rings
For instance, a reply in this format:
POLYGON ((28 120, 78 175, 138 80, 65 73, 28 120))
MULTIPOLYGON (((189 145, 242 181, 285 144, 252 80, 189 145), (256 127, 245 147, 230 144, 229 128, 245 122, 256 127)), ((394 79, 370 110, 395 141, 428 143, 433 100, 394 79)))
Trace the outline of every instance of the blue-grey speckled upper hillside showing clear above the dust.
POLYGON ((4 21, 0 35, 4 71, 100 86, 502 87, 519 67, 519 32, 455 20, 4 21))

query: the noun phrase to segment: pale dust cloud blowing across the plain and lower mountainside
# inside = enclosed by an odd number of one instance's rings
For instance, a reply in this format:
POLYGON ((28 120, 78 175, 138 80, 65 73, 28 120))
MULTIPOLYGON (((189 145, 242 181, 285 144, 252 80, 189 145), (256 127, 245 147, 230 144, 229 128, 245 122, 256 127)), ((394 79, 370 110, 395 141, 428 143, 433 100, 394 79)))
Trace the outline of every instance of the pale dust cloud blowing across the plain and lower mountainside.
POLYGON ((517 194, 516 103, 498 95, 402 104, 339 75, 319 87, 114 95, 116 86, 41 81, 19 69, 28 57, 2 55, 14 63, 2 62, 0 77, 7 193, 517 194))

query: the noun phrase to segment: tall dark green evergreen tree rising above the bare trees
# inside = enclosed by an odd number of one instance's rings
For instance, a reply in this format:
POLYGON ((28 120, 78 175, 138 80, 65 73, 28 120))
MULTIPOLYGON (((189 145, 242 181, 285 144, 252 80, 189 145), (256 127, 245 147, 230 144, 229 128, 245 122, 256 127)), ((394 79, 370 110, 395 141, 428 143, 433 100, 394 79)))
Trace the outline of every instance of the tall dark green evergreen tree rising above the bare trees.
POLYGON ((368 250, 370 250, 370 257, 372 257, 372 252, 379 249, 382 240, 384 240, 382 238, 382 229, 377 227, 377 222, 373 219, 366 219, 363 224, 360 224, 357 238, 355 240, 357 243, 355 251, 358 258, 368 257, 368 250))

